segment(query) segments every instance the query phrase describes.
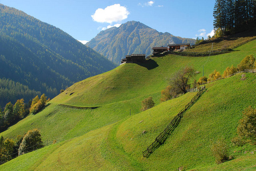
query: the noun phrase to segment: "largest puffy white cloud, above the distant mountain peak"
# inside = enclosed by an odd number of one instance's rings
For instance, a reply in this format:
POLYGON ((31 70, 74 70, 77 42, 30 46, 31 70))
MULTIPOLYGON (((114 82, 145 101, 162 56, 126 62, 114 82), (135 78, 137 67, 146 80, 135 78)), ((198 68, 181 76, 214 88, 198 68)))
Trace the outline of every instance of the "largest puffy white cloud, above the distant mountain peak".
POLYGON ((97 9, 91 17, 95 22, 111 24, 126 19, 129 14, 130 13, 126 7, 121 6, 120 4, 114 4, 107 6, 105 9, 97 9))

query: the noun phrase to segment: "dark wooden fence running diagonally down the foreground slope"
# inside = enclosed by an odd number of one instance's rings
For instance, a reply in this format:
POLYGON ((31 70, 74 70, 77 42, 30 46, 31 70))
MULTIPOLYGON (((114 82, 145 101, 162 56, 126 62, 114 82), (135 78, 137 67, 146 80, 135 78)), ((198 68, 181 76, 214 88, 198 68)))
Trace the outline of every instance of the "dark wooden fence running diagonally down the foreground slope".
POLYGON ((190 100, 189 103, 183 108, 178 115, 174 117, 173 120, 167 125, 167 127, 155 138, 154 142, 147 147, 145 151, 143 151, 143 157, 149 157, 151 153, 154 152, 155 149, 157 149, 160 145, 165 143, 165 140, 170 135, 171 132, 174 131, 174 129, 178 126, 179 122, 181 121, 181 118, 183 117, 183 114, 189 109, 195 101, 202 95, 202 93, 205 92, 205 86, 202 87, 202 89, 199 90, 197 95, 193 97, 193 99, 190 100))

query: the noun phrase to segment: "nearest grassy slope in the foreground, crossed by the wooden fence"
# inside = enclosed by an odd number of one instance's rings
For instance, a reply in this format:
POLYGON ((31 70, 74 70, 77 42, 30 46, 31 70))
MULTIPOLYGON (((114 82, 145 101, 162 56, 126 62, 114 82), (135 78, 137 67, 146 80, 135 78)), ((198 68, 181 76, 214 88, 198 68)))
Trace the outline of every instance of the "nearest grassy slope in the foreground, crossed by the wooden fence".
MULTIPOLYGON (((116 124, 88 132, 70 141, 47 146, 25 154, 0 166, 7 170, 19 166, 21 170, 240 170, 254 166, 255 154, 243 152, 256 149, 244 146, 242 153, 231 146, 234 160, 216 165, 210 151, 211 141, 230 140, 236 134, 242 110, 255 105, 255 74, 241 74, 207 85, 207 91, 187 111, 178 127, 149 158, 142 151, 152 143, 180 109, 195 95, 187 93, 166 101, 145 112, 126 117, 116 124), (242 87, 247 88, 242 88, 242 87), (225 88, 223 88, 225 87, 225 88), (142 133, 146 131, 146 133, 142 133), (30 162, 25 162, 30 158, 30 162)), ((241 150, 241 149, 239 149, 241 150)))

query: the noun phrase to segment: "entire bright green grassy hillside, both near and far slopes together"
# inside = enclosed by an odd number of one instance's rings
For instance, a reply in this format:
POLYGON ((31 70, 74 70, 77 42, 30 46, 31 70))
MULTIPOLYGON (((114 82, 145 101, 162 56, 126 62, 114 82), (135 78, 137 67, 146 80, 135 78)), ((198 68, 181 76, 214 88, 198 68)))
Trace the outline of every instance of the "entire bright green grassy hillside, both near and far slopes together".
POLYGON ((254 166, 254 154, 233 153, 254 150, 254 146, 244 149, 230 146, 229 152, 235 159, 221 165, 215 165, 210 152, 211 141, 224 138, 231 144, 242 110, 248 105, 255 106, 254 74, 246 74, 245 81, 236 75, 207 84, 207 91, 185 113, 165 144, 149 158, 144 158, 142 151, 195 95, 186 93, 159 103, 161 90, 173 72, 186 65, 193 65, 201 72, 204 65, 205 75, 215 69, 223 72, 246 55, 255 55, 255 44, 253 40, 234 52, 210 58, 167 55, 152 58, 144 66, 124 64, 75 83, 51 100, 42 112, 1 133, 3 137, 14 138, 38 128, 44 142, 57 140, 57 144, 19 156, 0 169, 177 170, 183 166, 196 170, 222 167, 236 170, 237 165, 254 166), (153 96, 156 106, 140 112, 141 101, 149 96, 153 96))

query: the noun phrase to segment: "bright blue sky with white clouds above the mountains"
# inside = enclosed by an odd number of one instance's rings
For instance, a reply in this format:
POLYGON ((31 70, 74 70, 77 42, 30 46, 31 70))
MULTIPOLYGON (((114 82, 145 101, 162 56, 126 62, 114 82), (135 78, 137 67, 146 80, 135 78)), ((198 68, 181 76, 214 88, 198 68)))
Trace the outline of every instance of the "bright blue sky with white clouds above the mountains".
POLYGON ((213 30, 214 0, 0 0, 77 40, 91 40, 100 31, 139 21, 182 38, 207 38, 213 30))

